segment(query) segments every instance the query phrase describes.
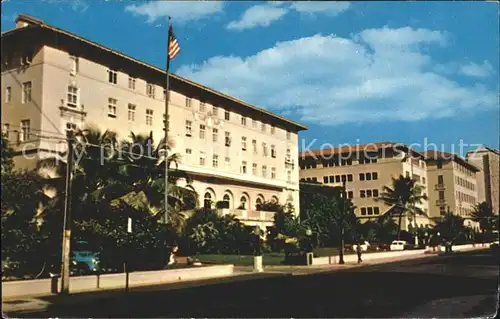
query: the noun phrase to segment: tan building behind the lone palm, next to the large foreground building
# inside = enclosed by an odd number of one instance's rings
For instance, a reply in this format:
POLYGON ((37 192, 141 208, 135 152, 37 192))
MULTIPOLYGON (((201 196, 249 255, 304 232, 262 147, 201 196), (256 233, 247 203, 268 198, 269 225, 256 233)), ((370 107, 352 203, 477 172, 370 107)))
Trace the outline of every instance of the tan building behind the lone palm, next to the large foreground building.
MULTIPOLYGON (((408 146, 393 142, 343 146, 320 150, 304 150, 299 155, 301 181, 313 181, 331 186, 342 186, 345 181, 347 197, 356 206, 355 214, 369 220, 385 214, 391 207, 376 199, 384 186, 392 187, 392 178, 411 176, 428 191, 424 156, 408 146)), ((428 202, 419 207, 428 213, 428 202)), ((410 220, 402 221, 408 229, 410 220)), ((418 216, 416 223, 429 224, 425 216, 418 216)))

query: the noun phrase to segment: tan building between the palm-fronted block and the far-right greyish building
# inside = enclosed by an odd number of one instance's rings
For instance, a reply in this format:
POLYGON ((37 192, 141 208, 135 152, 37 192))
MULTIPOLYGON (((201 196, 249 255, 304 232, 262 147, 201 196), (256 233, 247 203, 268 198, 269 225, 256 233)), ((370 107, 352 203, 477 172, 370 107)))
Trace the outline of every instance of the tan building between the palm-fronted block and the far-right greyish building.
MULTIPOLYGON (((429 217, 439 219, 452 212, 470 217, 477 204, 476 173, 479 168, 462 157, 440 151, 426 151, 429 179, 429 217)), ((470 220, 468 225, 474 225, 470 220)))

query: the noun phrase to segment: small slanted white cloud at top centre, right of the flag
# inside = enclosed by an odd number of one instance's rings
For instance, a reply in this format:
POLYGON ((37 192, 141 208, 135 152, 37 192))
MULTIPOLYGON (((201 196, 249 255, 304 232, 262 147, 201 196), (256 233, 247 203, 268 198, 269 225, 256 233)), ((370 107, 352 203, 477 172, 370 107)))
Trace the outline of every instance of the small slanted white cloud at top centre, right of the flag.
POLYGON ((271 22, 282 18, 287 14, 287 8, 277 5, 256 5, 247 9, 239 21, 232 21, 227 25, 230 30, 244 30, 257 26, 267 27, 271 22))

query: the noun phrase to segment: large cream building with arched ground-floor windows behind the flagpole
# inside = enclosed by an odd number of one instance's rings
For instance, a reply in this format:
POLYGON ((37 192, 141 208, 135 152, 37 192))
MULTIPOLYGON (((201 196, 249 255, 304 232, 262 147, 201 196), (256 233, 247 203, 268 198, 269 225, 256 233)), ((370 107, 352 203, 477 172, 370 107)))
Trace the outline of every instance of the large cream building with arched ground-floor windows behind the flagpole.
MULTIPOLYGON (((29 16, 16 24, 2 33, 2 124, 24 154, 16 167, 63 155, 67 129, 163 138, 164 70, 29 16)), ((305 126, 175 74, 170 88, 169 135, 179 169, 194 179, 187 187, 250 225, 272 224, 273 213, 257 209, 264 201, 299 213, 305 126)))

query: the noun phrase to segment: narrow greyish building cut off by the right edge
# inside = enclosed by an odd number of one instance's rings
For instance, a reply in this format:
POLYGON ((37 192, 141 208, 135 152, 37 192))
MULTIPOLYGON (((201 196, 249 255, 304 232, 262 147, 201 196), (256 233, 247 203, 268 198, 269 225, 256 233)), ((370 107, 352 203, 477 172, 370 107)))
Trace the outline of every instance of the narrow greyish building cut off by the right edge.
POLYGON ((483 146, 467 152, 467 161, 480 169, 477 172, 478 202, 487 202, 493 213, 500 212, 500 152, 483 146))

